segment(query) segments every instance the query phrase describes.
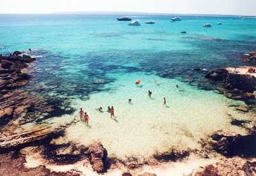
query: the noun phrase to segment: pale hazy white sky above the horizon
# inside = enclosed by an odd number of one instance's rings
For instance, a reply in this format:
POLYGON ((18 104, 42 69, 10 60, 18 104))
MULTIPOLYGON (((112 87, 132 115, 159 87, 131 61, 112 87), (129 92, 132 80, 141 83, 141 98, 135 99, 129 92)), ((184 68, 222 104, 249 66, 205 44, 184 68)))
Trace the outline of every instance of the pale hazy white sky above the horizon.
POLYGON ((0 0, 0 13, 131 11, 256 16, 256 0, 0 0))

